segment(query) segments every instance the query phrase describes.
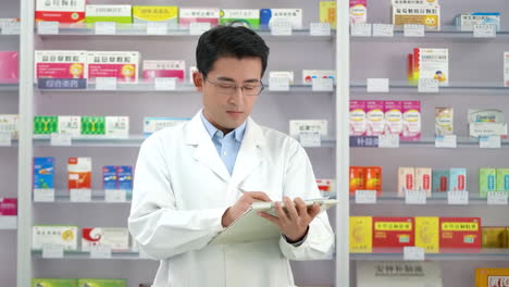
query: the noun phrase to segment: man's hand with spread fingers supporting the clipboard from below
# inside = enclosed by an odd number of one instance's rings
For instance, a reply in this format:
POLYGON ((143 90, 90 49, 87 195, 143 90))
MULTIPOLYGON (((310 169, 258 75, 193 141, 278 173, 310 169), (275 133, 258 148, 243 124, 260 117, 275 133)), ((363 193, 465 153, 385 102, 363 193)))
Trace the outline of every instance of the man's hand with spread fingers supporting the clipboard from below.
POLYGON ((302 240, 311 221, 320 213, 320 205, 313 204, 307 207, 301 198, 296 198, 294 202, 288 197, 283 198, 285 207, 281 202, 275 202, 275 212, 277 216, 259 212, 263 219, 274 223, 280 227, 281 233, 291 242, 302 240))

